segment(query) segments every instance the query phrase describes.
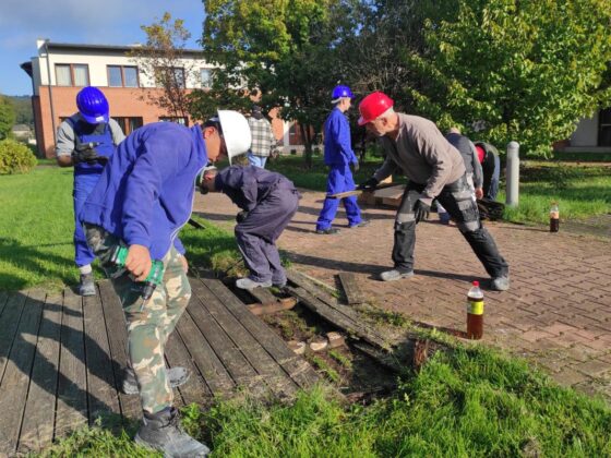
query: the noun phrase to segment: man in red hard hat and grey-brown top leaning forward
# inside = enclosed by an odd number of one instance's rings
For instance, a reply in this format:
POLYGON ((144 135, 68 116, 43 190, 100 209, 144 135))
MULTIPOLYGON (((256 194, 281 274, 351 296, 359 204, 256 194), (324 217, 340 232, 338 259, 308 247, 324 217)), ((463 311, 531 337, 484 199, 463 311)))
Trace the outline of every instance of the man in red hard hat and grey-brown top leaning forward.
POLYGON ((368 95, 359 105, 359 125, 380 137, 386 152, 382 167, 359 189, 373 188, 395 171, 409 179, 395 217, 394 268, 380 278, 392 281, 414 276, 416 225, 428 217, 436 198, 492 277, 492 289, 510 289, 508 265, 480 222, 460 153, 432 121, 395 112, 393 105, 381 92, 368 95))

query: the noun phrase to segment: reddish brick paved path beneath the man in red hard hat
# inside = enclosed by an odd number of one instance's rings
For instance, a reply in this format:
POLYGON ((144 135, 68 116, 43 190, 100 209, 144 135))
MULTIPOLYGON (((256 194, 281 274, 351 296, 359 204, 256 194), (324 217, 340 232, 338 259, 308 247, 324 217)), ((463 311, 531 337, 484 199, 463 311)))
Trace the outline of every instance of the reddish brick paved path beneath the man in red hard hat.
MULTIPOLYGON (((512 288, 489 291, 487 274, 455 227, 418 225, 416 276, 382 282, 390 267, 393 209, 364 207, 371 225, 338 236, 313 232, 323 193, 303 192, 279 240, 298 268, 330 285, 338 272, 358 275, 371 303, 415 322, 464 330, 469 281, 482 280, 484 341, 524 355, 556 381, 611 399, 611 241, 546 228, 487 224, 510 263, 512 288)), ((225 195, 199 195, 195 212, 232 229, 235 207, 225 195)), ((436 215, 431 215, 433 221, 436 215)))

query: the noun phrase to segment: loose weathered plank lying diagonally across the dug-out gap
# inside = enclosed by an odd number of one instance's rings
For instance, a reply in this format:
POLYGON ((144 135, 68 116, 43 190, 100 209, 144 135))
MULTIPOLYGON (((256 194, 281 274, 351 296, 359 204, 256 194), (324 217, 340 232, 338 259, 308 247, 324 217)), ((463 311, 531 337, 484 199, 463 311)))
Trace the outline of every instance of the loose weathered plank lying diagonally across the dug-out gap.
POLYGON ((298 298, 304 306, 310 309, 312 312, 318 313, 320 316, 322 316, 333 325, 346 330, 351 335, 357 336, 358 338, 371 345, 374 345, 382 349, 388 349, 388 342, 386 342, 386 340, 381 335, 368 329, 366 326, 361 325, 360 322, 357 322, 339 313, 337 310, 331 308, 325 302, 315 298, 303 288, 289 287, 288 291, 296 298, 298 298))

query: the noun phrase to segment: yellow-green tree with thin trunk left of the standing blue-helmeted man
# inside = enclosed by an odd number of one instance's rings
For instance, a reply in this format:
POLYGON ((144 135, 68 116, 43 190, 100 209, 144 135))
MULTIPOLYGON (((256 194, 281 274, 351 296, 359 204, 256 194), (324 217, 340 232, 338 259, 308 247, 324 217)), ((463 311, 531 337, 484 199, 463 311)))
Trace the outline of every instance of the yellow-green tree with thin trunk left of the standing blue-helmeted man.
POLYGON ((219 70, 212 91, 194 95, 195 106, 205 111, 223 100, 243 108, 252 96, 265 108, 279 107, 280 118, 299 122, 309 164, 331 89, 346 82, 337 44, 352 33, 348 4, 211 0, 205 9, 204 57, 219 70))

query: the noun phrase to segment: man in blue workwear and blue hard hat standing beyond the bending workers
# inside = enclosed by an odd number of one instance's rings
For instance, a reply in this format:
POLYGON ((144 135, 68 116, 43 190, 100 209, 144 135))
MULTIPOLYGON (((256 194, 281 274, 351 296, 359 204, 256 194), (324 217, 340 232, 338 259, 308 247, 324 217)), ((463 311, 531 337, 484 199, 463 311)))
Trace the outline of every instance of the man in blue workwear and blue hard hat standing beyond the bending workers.
MULTIPOLYGON (((326 181, 326 193, 354 191, 355 180, 350 171, 350 164, 355 170, 359 169, 359 160, 350 145, 350 124, 345 112, 352 104, 352 92, 348 86, 336 86, 332 94, 332 104, 335 108, 324 124, 324 161, 330 167, 326 181)), ((361 210, 357 204, 357 196, 342 198, 348 217, 348 227, 357 228, 366 226, 369 221, 361 218, 361 210)), ((333 219, 337 213, 339 200, 326 197, 323 209, 316 221, 316 233, 333 234, 339 229, 332 227, 333 219)))

